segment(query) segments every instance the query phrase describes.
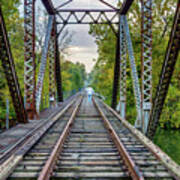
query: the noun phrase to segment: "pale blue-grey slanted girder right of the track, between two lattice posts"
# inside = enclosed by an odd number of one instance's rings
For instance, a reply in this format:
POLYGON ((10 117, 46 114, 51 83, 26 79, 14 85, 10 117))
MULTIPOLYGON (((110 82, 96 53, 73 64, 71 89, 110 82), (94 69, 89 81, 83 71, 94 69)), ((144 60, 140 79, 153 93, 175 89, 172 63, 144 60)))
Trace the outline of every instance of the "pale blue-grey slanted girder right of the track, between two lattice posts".
POLYGON ((140 85, 139 85, 139 79, 136 69, 136 62, 134 58, 134 52, 133 52, 133 45, 131 41, 131 36, 129 32, 129 26, 125 15, 122 15, 122 20, 124 24, 124 32, 126 36, 126 43, 127 43, 127 49, 130 59, 130 66, 131 66, 131 74, 132 74, 132 80, 133 80, 133 89, 134 89, 134 96, 136 100, 136 110, 137 110, 137 120, 135 123, 135 127, 142 129, 142 118, 141 118, 141 91, 140 91, 140 85))

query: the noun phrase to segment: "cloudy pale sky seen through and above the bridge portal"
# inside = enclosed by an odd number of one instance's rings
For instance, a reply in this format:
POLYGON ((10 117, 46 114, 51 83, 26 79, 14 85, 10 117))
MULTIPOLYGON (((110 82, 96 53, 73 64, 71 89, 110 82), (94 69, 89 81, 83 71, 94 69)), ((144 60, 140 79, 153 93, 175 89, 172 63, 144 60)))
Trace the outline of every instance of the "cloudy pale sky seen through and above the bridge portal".
MULTIPOLYGON (((55 7, 61 5, 67 0, 52 0, 55 7)), ((106 2, 111 3, 116 7, 118 0, 106 0, 106 2)), ((41 1, 36 1, 36 6, 42 7, 41 1)), ((104 4, 100 3, 98 0, 73 0, 69 5, 64 6, 63 9, 68 8, 97 8, 97 9, 109 9, 104 4)), ((21 13, 23 14, 23 7, 20 8, 21 13)), ((89 73, 95 61, 93 59, 97 59, 97 46, 95 44, 95 39, 88 34, 89 25, 68 25, 66 29, 70 33, 72 33, 71 42, 66 49, 68 54, 65 56, 67 60, 72 62, 81 62, 85 65, 86 71, 89 73)))

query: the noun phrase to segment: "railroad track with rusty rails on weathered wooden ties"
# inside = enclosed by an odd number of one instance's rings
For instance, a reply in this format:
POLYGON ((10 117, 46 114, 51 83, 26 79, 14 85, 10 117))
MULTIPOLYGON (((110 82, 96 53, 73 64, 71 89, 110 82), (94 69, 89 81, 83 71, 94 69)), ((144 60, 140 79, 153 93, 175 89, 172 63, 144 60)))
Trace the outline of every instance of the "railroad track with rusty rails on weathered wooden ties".
POLYGON ((178 179, 179 166, 136 131, 99 99, 77 97, 0 178, 178 179))

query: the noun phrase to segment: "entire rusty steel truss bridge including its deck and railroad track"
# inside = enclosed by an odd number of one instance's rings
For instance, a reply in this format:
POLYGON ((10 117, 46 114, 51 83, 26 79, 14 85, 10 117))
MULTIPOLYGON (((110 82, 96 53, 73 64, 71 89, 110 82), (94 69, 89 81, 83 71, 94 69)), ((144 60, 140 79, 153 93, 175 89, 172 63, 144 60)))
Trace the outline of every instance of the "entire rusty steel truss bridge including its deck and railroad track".
POLYGON ((36 1, 24 0, 25 98, 0 9, 0 59, 19 122, 0 134, 0 179, 180 179, 180 167, 150 140, 158 127, 178 59, 180 0, 154 99, 152 0, 141 0, 141 82, 126 17, 135 3, 133 0, 124 0, 121 8, 99 0, 106 9, 66 9, 72 0, 58 7, 51 0, 42 0, 48 24, 37 75, 36 1), (88 101, 84 91, 63 101, 58 38, 68 24, 107 24, 112 28, 117 42, 111 107, 96 96, 88 101), (40 105, 48 58, 51 102, 42 114, 40 105), (134 126, 126 121, 127 61, 137 111, 134 126))

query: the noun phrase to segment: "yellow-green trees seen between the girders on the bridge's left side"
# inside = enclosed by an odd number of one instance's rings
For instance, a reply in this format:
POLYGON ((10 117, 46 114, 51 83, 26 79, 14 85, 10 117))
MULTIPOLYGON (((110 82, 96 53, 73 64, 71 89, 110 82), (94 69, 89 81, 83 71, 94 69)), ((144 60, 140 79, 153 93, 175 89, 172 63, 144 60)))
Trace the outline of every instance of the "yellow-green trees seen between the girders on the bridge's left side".
MULTIPOLYGON (((8 37, 10 40, 11 50, 15 62, 16 72, 18 75, 20 87, 22 90, 22 95, 24 95, 24 19, 20 16, 19 6, 20 0, 0 0, 0 5, 2 7, 3 16, 6 23, 6 28, 8 32, 8 37)), ((42 17, 46 16, 45 12, 39 12, 42 17)), ((46 32, 47 18, 42 22, 37 20, 36 26, 36 78, 39 70, 39 59, 41 58, 41 50, 43 47, 43 39, 46 32), (40 36, 39 36, 40 34, 40 36)), ((67 31, 64 32, 60 41, 60 50, 65 48, 70 42, 71 34, 67 31)), ((63 57, 62 57, 63 59, 63 57)), ((48 59, 49 60, 49 59, 48 59)), ((80 63, 72 63, 70 61, 63 60, 62 66, 62 80, 63 80, 63 91, 65 92, 65 98, 70 95, 66 92, 72 90, 78 91, 79 88, 83 87, 83 82, 86 78, 85 67, 80 63)), ((4 119, 6 117, 6 98, 10 100, 10 119, 15 119, 14 108, 11 102, 11 97, 9 95, 9 90, 7 87, 7 82, 3 73, 3 69, 0 63, 0 127, 4 126, 4 119)), ((42 107, 46 108, 48 106, 48 95, 49 95, 49 66, 47 63, 44 85, 43 85, 43 97, 42 97, 42 107)))

